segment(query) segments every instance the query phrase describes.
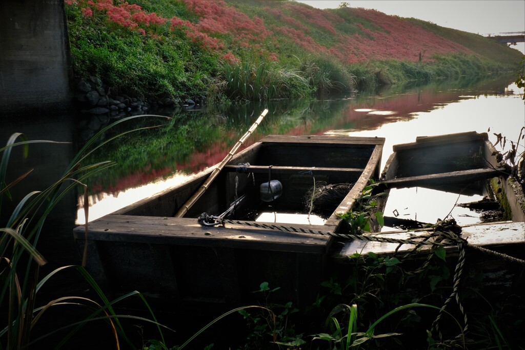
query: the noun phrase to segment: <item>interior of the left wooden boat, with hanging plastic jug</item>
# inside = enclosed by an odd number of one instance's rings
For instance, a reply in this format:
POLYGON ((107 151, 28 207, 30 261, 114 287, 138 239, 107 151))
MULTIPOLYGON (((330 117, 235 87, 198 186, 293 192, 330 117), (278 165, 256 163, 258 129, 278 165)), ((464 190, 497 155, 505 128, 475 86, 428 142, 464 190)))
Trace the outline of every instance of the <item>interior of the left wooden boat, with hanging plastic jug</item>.
MULTIPOLYGON (((304 224, 311 218, 318 225, 336 220, 336 213, 345 211, 339 208, 341 203, 344 207, 345 200, 353 201, 370 177, 379 178, 383 143, 379 137, 267 136, 234 155, 183 217, 206 213, 270 222, 303 218, 304 224), (330 186, 346 189, 330 194, 330 186), (334 198, 312 204, 312 193, 322 190, 334 198)), ((198 176, 156 199, 124 208, 120 214, 173 216, 208 176, 198 176)))

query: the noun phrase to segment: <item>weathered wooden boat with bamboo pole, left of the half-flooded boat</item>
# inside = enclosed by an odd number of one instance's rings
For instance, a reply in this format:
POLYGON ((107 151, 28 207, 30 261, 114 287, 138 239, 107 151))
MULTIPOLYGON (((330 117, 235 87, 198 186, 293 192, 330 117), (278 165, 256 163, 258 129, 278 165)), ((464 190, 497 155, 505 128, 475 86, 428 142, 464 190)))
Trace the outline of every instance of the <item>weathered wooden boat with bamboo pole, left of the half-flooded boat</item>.
MULTIPOLYGON (((344 230, 337 213, 352 208, 369 179, 379 178, 383 144, 379 137, 267 136, 234 155, 183 217, 173 216, 213 169, 90 222, 87 237, 83 226, 74 235, 80 251, 87 243, 88 271, 113 296, 139 290, 162 305, 228 309, 249 302, 252 291, 268 282, 281 288, 283 302, 309 304, 333 239, 253 224, 263 212, 270 223, 280 214, 308 217, 302 198, 315 179, 352 185, 338 204, 323 208, 328 214, 321 224, 283 225, 344 230), (279 197, 261 199, 268 195, 261 185, 273 181, 282 187, 275 190, 279 197), (202 213, 238 223, 201 225, 202 213)), ((273 189, 271 195, 277 197, 273 189)))

